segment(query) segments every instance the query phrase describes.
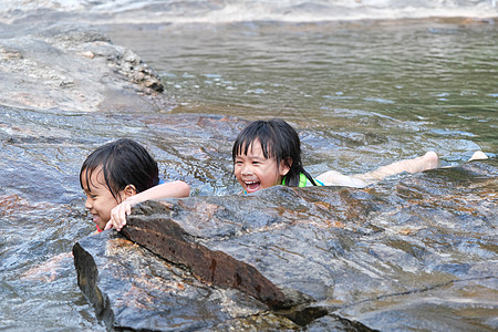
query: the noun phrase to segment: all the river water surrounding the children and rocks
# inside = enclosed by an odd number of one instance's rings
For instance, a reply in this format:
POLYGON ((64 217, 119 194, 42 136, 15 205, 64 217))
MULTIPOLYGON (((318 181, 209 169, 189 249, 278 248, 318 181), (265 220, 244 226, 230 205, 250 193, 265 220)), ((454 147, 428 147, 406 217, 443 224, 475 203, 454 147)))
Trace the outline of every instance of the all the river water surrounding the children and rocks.
POLYGON ((445 1, 417 1, 412 11, 387 11, 395 1, 331 2, 342 6, 344 20, 321 21, 334 9, 321 1, 241 2, 258 4, 250 17, 215 1, 138 1, 136 11, 133 1, 91 10, 62 1, 79 13, 114 12, 100 28, 156 70, 178 106, 68 114, 0 105, 0 329, 105 329, 64 253, 93 231, 77 174, 85 156, 110 139, 139 141, 165 179, 187 180, 196 196, 238 190, 230 142, 243 124, 239 118, 278 116, 293 124, 312 174, 366 172, 429 149, 443 165, 463 163, 477 149, 496 156, 492 1, 449 9, 445 1), (452 18, 469 9, 469 19, 452 18), (144 11, 175 20, 143 20, 144 11), (236 19, 220 20, 218 11, 236 19), (483 12, 491 18, 475 19, 483 12))

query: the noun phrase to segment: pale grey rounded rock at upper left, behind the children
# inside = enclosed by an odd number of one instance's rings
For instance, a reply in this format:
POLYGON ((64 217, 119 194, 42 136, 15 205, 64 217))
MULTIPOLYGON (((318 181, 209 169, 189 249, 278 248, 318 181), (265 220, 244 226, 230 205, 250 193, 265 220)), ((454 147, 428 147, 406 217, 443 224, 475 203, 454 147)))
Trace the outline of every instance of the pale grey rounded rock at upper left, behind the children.
POLYGON ((0 34, 0 104, 30 110, 162 111, 159 76, 95 28, 39 23, 0 34))

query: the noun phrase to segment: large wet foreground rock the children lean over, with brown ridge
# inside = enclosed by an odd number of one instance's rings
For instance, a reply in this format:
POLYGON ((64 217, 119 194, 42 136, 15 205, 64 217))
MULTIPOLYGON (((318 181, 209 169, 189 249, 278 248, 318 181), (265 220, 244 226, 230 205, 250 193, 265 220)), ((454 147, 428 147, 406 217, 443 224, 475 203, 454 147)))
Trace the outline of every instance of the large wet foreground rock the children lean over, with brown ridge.
POLYGON ((488 159, 365 189, 144 203, 121 235, 74 246, 79 284, 116 330, 492 331, 497 177, 488 159), (227 259, 261 279, 215 278, 227 259))

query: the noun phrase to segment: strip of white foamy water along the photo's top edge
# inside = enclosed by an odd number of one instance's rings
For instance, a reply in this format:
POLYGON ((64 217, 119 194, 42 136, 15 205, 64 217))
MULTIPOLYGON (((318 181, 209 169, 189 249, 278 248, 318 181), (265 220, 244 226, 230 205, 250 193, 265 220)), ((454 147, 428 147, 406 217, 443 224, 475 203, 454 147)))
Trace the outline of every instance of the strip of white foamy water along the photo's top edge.
POLYGON ((98 14, 98 23, 498 18, 496 0, 2 0, 0 4, 0 13, 18 18, 40 9, 98 14))

